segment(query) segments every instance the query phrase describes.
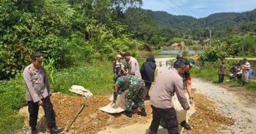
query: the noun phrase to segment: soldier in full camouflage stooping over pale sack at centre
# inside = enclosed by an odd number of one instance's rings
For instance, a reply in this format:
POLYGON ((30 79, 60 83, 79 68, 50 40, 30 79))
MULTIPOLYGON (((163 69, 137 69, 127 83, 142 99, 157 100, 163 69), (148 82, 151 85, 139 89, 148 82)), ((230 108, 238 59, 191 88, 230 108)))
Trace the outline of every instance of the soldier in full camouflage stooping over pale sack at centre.
POLYGON ((125 112, 124 114, 131 118, 131 110, 132 110, 132 103, 135 102, 140 107, 140 112, 138 113, 141 116, 146 116, 146 110, 144 105, 144 92, 145 92, 145 83, 143 80, 139 79, 137 76, 114 76, 114 81, 116 83, 115 90, 114 90, 114 100, 113 102, 116 103, 117 94, 123 93, 127 90, 125 94, 125 112))

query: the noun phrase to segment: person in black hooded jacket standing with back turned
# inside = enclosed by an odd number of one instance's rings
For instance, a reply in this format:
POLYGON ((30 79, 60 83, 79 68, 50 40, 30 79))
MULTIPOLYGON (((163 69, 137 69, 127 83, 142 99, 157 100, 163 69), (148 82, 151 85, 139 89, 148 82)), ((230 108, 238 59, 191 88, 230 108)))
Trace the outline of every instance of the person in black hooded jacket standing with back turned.
POLYGON ((140 68, 140 74, 142 76, 142 80, 145 82, 146 86, 146 97, 145 99, 150 99, 148 92, 150 90, 152 82, 155 80, 155 70, 156 70, 156 61, 154 55, 150 54, 140 68))

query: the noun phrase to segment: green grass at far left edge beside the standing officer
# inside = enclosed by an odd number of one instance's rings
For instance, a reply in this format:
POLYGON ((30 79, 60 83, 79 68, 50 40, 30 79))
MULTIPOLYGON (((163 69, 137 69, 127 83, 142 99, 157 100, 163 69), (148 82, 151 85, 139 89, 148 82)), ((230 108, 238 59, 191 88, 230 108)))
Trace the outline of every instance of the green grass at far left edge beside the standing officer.
POLYGON ((0 81, 0 133, 14 133, 24 124, 24 117, 16 115, 26 105, 25 84, 22 76, 0 81))

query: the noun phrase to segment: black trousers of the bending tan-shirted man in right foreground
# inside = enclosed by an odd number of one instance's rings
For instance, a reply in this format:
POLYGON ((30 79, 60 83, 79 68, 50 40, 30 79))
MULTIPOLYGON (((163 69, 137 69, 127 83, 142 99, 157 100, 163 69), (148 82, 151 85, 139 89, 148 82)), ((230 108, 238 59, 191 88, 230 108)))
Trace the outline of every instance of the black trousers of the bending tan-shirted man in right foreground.
POLYGON ((158 133, 158 127, 161 122, 165 122, 165 127, 169 134, 179 134, 179 123, 177 120, 177 114, 175 109, 172 107, 170 109, 160 109, 152 106, 153 120, 150 125, 149 134, 158 133))

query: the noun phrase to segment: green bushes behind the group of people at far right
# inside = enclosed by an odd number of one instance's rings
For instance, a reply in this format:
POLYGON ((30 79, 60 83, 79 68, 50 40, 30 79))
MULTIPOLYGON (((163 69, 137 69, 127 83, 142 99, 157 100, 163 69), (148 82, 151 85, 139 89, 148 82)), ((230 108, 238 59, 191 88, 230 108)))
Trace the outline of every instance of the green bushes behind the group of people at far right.
POLYGON ((199 60, 202 64, 206 62, 219 61, 232 56, 256 56, 256 36, 247 34, 232 34, 215 40, 203 47, 203 54, 199 60))

